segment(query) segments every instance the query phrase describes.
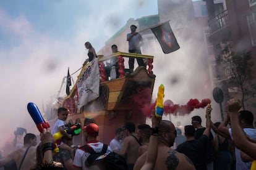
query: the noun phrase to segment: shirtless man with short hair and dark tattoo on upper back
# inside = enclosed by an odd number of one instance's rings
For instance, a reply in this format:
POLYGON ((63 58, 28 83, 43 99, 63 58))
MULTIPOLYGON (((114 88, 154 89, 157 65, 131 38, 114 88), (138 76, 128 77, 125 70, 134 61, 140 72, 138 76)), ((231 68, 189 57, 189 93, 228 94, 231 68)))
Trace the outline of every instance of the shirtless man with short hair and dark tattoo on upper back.
MULTIPOLYGON (((194 164, 186 155, 176 152, 172 147, 176 137, 176 129, 171 121, 162 120, 159 124, 158 155, 154 169, 195 169, 194 164)), ((135 163, 134 169, 141 169, 147 158, 143 153, 135 163)))

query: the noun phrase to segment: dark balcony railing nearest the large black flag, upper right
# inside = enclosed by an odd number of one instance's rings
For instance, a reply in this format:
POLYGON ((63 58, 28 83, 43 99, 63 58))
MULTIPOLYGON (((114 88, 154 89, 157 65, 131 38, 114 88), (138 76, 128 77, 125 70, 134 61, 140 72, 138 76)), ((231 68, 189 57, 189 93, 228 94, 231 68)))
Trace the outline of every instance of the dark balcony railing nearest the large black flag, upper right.
POLYGON ((228 25, 228 10, 224 10, 209 20, 210 33, 218 31, 226 25, 228 25))

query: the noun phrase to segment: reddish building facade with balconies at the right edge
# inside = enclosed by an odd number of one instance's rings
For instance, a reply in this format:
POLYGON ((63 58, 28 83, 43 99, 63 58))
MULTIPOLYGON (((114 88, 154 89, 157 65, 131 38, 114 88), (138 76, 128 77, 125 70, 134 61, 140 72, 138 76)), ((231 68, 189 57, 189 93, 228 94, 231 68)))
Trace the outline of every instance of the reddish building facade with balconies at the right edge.
MULTIPOLYGON (((208 39, 213 44, 213 52, 215 59, 218 57, 223 60, 226 55, 223 55, 223 49, 230 46, 230 51, 233 55, 239 52, 250 52, 251 59, 249 64, 255 63, 256 55, 256 1, 226 1, 226 8, 223 10, 216 10, 213 6, 213 0, 205 0, 209 15, 210 32, 208 39)), ((233 78, 229 73, 229 68, 223 68, 223 65, 212 65, 215 74, 215 84, 221 87, 224 92, 224 99, 228 100, 232 97, 244 98, 244 109, 250 110, 253 113, 256 111, 255 106, 255 77, 253 73, 255 66, 252 69, 252 77, 248 77, 243 89, 244 97, 241 92, 241 86, 231 85, 230 81, 233 78)), ((245 75, 246 76, 246 75, 245 75)), ((224 100, 224 103, 226 103, 224 100)))

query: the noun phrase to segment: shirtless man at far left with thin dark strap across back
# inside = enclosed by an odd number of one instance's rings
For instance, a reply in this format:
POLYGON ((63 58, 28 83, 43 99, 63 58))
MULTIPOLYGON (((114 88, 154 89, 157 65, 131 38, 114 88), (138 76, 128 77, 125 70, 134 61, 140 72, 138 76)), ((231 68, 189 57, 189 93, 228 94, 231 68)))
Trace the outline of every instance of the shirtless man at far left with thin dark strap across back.
POLYGON ((0 160, 0 167, 8 164, 10 161, 14 160, 16 167, 20 170, 27 170, 30 168, 32 164, 36 163, 36 136, 35 134, 26 134, 24 136, 24 145, 19 150, 16 150, 9 155, 6 156, 6 158, 3 158, 0 160), (27 151, 27 154, 25 155, 25 152, 27 151), (25 155, 25 158, 22 163, 22 158, 25 155))

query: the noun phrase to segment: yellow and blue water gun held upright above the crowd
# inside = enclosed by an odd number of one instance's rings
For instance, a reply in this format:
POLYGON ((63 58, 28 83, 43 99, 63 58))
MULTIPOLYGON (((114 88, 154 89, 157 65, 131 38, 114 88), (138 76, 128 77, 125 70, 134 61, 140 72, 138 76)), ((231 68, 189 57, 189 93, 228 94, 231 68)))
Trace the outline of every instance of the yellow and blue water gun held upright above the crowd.
POLYGON ((161 118, 163 116, 163 111, 164 111, 163 98, 164 98, 164 86, 163 84, 161 84, 158 87, 158 94, 156 98, 156 105, 155 105, 156 118, 161 118))

